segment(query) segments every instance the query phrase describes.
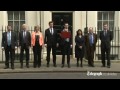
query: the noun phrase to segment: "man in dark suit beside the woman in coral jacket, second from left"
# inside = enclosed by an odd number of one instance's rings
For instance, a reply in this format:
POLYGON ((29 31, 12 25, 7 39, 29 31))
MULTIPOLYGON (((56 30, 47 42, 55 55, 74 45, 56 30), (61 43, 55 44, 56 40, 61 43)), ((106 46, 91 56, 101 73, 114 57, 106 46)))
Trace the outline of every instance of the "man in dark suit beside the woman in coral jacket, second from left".
POLYGON ((31 35, 27 31, 27 25, 22 25, 22 30, 19 33, 19 46, 20 46, 20 63, 23 68, 23 53, 26 52, 26 67, 29 68, 29 47, 31 46, 31 35))

